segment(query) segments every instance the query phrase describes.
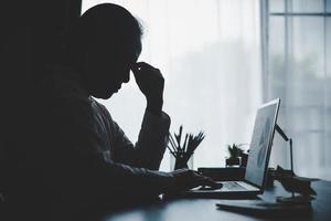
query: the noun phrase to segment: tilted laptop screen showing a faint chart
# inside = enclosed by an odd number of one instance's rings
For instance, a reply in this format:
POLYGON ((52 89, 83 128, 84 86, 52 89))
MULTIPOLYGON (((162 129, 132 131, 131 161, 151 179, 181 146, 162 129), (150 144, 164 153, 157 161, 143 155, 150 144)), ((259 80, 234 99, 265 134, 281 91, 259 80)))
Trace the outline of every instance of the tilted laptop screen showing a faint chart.
POLYGON ((245 180, 263 187, 269 162, 279 99, 263 105, 255 118, 245 180))

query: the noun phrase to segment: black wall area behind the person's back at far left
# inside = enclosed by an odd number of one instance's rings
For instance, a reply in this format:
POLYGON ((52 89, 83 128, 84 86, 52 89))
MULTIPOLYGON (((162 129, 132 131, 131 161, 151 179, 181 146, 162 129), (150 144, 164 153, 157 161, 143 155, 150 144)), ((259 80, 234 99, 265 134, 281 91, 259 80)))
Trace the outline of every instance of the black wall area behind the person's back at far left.
POLYGON ((33 80, 58 52, 81 0, 15 0, 0 8, 0 191, 29 139, 33 80), (8 165, 8 161, 10 165, 8 165))

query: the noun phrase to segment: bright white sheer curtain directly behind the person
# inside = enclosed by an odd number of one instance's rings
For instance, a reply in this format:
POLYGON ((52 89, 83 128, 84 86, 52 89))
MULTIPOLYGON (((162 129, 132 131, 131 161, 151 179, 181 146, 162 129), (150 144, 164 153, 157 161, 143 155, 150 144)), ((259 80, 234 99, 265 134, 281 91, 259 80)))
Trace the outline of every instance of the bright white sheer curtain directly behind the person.
MULTIPOLYGON (((205 131, 194 168, 224 166, 225 145, 249 143, 261 103, 258 0, 83 0, 83 10, 103 3, 124 6, 143 24, 142 54, 166 77, 164 110, 171 131, 205 131)), ((130 83, 102 101, 136 141, 145 98, 130 83)), ((167 152, 161 169, 169 170, 167 152)))

